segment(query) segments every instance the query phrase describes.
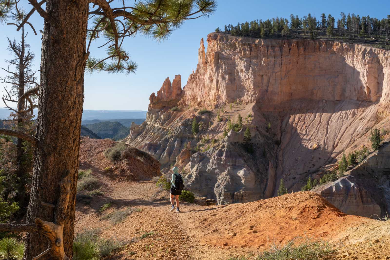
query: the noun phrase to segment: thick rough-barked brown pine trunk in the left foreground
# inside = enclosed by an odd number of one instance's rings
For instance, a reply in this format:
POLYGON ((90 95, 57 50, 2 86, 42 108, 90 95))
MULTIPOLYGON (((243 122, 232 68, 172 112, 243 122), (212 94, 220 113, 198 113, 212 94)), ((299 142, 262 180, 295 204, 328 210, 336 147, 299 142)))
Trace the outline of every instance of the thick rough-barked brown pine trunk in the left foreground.
MULTIPOLYGON (((35 149, 34 173, 27 223, 36 218, 55 222, 54 209, 41 202, 56 204, 58 182, 66 170, 72 181, 67 221, 64 226, 64 248, 73 255, 74 212, 81 116, 83 111, 84 68, 87 55, 87 0, 48 0, 46 12, 56 22, 44 21, 42 40, 41 86, 37 140, 44 151, 35 149)), ((43 235, 28 233, 24 259, 30 260, 48 248, 43 235)), ((44 255, 39 260, 56 259, 44 255)))

